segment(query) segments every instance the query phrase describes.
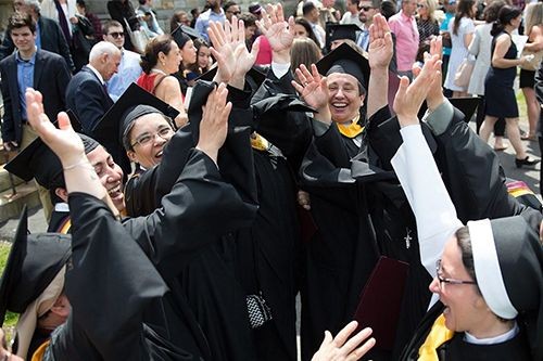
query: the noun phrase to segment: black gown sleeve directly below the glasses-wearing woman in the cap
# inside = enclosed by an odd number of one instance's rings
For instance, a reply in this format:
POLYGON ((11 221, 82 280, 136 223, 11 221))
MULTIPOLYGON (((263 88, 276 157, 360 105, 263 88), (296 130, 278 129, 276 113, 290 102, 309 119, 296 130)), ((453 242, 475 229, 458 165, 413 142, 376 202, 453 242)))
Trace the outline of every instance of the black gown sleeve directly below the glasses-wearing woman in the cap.
POLYGON ((124 225, 166 281, 217 236, 249 227, 257 209, 254 203, 244 202, 223 180, 213 160, 198 150, 192 151, 161 204, 148 217, 128 219, 124 225))

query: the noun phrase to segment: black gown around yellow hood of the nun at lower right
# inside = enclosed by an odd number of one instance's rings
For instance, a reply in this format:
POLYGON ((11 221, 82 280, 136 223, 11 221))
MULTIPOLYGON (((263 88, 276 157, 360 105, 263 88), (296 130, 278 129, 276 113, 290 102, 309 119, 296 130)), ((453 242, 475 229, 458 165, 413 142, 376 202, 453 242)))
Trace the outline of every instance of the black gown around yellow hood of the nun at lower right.
MULTIPOLYGON (((443 309, 443 304, 438 302, 428 311, 404 349, 400 361, 416 361, 418 359, 419 349, 443 309)), ((514 338, 495 345, 469 344, 464 340, 464 333, 456 333, 453 338, 440 345, 435 350, 439 361, 532 360, 530 345, 522 328, 514 338)))

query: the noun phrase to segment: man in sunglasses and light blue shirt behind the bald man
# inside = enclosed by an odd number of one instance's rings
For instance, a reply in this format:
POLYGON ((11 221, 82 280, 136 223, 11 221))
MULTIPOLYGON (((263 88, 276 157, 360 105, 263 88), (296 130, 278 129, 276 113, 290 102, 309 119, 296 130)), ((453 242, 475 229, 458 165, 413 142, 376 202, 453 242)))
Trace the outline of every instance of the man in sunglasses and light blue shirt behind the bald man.
POLYGON ((121 25, 119 22, 109 21, 104 24, 104 41, 113 43, 121 50, 122 54, 117 74, 113 75, 106 82, 108 93, 114 102, 121 98, 130 83, 138 80, 142 72, 139 65, 140 55, 123 48, 125 44, 125 36, 123 25, 121 25))

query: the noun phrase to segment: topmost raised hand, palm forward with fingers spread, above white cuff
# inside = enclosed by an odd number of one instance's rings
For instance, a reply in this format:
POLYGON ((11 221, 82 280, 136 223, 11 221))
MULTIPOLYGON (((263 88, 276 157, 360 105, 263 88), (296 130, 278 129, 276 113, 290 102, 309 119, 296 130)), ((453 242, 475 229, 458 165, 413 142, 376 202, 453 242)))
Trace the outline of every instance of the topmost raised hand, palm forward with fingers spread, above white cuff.
POLYGON ((256 21, 256 26, 268 39, 273 51, 290 51, 294 41, 294 17, 290 16, 287 23, 280 3, 276 7, 268 4, 266 10, 263 9, 262 20, 256 21))

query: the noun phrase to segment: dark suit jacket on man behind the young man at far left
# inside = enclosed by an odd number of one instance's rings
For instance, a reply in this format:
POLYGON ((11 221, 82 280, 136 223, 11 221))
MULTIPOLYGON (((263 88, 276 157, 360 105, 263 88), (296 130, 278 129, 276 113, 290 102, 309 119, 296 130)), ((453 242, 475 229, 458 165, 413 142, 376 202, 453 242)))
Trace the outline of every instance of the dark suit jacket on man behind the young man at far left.
MULTIPOLYGON (((52 18, 40 16, 38 18, 39 34, 41 38, 41 49, 59 54, 66 61, 71 72, 75 69, 70 47, 62 34, 60 25, 52 18)), ((2 44, 0 46, 0 61, 8 57, 15 50, 15 44, 11 39, 10 31, 5 31, 2 44)))

